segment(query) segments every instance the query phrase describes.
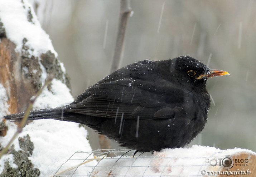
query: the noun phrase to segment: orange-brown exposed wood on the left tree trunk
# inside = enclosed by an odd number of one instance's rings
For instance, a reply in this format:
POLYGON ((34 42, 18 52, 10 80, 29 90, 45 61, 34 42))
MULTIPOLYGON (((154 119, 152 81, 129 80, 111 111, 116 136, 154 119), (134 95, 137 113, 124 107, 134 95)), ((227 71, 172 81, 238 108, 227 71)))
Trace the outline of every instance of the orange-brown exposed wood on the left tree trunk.
MULTIPOLYGON (((6 37, 0 43, 0 81, 6 89, 10 114, 24 112, 30 98, 35 95, 39 85, 34 77, 26 77, 22 72, 22 55, 15 52, 16 45, 6 37)), ((35 63, 35 62, 31 62, 35 63)), ((39 64, 38 64, 38 67, 39 64)), ((38 68, 39 69, 39 68, 38 68)))

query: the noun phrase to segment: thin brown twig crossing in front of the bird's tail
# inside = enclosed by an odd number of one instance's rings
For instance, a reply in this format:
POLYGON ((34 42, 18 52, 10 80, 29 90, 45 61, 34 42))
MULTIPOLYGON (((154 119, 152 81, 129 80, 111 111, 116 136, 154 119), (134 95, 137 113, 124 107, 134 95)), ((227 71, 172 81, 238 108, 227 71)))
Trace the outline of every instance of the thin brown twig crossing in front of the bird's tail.
POLYGON ((3 155, 5 155, 6 153, 8 153, 10 146, 12 145, 13 141, 16 139, 16 137, 19 135, 19 133, 22 132, 23 127, 26 124, 26 121, 28 120, 30 111, 33 108, 33 105, 35 103, 35 100, 37 100, 38 96, 42 93, 42 91, 44 90, 45 87, 47 87, 53 80, 54 75, 53 74, 49 74, 48 77, 45 80, 44 85, 40 88, 40 90, 36 93, 36 95, 34 96, 33 99, 30 100, 28 108, 26 110, 26 113, 24 115, 24 117, 22 118, 20 124, 18 125, 18 128, 16 130, 16 132, 14 133, 13 137, 11 138, 11 140, 9 141, 9 143, 6 145, 6 147, 0 152, 0 159, 3 155))

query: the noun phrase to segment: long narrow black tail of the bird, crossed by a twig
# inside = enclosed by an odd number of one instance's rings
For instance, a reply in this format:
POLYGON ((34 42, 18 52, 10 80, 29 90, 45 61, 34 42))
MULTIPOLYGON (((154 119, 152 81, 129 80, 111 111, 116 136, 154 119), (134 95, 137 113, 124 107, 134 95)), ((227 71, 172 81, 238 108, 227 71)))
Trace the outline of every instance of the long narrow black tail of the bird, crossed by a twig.
MULTIPOLYGON (((4 116, 6 120, 19 122, 24 117, 25 112, 12 114, 8 116, 4 116)), ((45 118, 53 118, 53 119, 62 119, 63 116, 66 116, 63 112, 62 108, 50 108, 44 110, 36 110, 31 111, 28 117, 28 120, 36 120, 36 119, 45 119, 45 118)))

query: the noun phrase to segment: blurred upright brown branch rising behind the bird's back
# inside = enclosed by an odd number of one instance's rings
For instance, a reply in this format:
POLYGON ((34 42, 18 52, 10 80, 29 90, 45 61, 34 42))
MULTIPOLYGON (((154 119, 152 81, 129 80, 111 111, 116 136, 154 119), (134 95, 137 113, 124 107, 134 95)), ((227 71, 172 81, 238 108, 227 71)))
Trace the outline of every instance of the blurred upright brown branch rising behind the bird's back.
POLYGON ((112 65, 110 72, 114 72, 118 69, 119 63, 122 57, 122 53, 124 51, 124 40, 125 40, 125 30, 127 21, 131 14, 131 5, 130 0, 121 0, 120 1, 120 16, 119 16, 119 26, 116 38, 116 47, 115 53, 112 60, 112 65))

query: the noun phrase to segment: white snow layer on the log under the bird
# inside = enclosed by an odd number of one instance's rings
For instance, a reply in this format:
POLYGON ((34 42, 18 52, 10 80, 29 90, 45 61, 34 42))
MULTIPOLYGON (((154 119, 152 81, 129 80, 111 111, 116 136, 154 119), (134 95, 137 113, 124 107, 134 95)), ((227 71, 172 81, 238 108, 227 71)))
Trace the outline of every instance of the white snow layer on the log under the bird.
MULTIPOLYGON (((122 150, 122 155, 128 150, 122 150)), ((113 151, 118 152, 118 151, 113 151)), ((191 148, 163 149, 159 152, 137 153, 132 157, 134 151, 126 153, 125 156, 105 157, 90 156, 90 152, 75 153, 70 160, 63 164, 58 175, 70 176, 74 171, 61 173, 74 167, 73 164, 88 162, 76 168, 74 176, 202 176, 202 171, 208 172, 209 164, 206 158, 222 158, 239 152, 247 152, 256 155, 250 150, 235 148, 220 150, 215 147, 197 146, 191 148), (97 161, 94 160, 97 158, 97 161), (82 161, 81 161, 82 160, 82 161), (89 163, 90 162, 90 163, 89 163), (66 168, 65 168, 66 167, 66 168)))

